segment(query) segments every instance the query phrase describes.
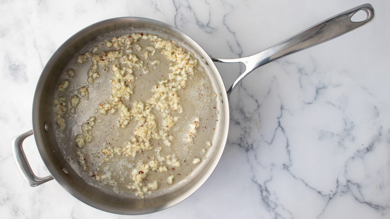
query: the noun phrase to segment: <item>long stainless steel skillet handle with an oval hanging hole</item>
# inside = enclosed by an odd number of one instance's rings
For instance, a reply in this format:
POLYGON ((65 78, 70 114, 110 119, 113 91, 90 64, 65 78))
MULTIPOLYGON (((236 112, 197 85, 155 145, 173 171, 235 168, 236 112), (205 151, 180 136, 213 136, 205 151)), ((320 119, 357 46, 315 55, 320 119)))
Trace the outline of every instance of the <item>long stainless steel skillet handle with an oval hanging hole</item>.
POLYGON ((281 41, 263 51, 258 53, 240 57, 240 58, 215 58, 211 57, 216 62, 242 62, 245 64, 245 71, 234 81, 234 83, 227 90, 227 95, 253 69, 266 64, 275 59, 284 57, 288 54, 300 51, 302 49, 317 45, 327 40, 333 39, 346 32, 349 32, 357 27, 371 22, 374 19, 374 9, 371 4, 362 4, 352 9, 346 10, 335 16, 332 16, 325 21, 315 24, 298 34, 281 41), (364 11, 367 17, 361 21, 352 21, 351 17, 358 11, 364 11))

